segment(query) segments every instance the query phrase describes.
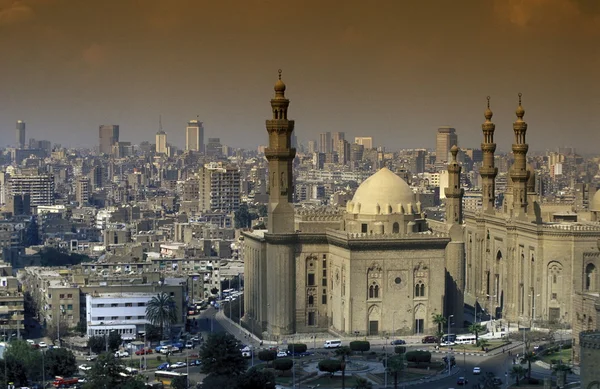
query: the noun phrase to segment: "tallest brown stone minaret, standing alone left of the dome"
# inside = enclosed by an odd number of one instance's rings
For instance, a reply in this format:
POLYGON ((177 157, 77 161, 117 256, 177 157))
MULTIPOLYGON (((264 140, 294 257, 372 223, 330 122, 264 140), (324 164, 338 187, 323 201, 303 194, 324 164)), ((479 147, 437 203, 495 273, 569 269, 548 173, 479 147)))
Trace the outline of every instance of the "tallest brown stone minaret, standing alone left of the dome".
POLYGON ((273 119, 267 120, 269 147, 265 157, 269 161, 269 222, 271 234, 294 232, 294 208, 292 195, 292 164, 296 149, 292 148, 294 121, 288 120, 287 109, 290 101, 285 98, 285 84, 279 79, 275 83, 275 97, 271 99, 273 119))

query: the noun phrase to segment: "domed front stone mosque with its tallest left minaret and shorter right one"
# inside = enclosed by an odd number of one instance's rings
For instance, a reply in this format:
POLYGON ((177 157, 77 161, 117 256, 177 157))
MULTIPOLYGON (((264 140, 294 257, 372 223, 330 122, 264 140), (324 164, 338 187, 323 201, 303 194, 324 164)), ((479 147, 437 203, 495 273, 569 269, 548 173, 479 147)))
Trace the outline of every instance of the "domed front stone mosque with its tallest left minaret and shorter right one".
MULTIPOLYGON (((280 76, 281 77, 281 76, 280 76)), ((409 185, 383 168, 346 209, 295 212, 294 122, 281 78, 267 120, 267 231, 244 234, 244 321, 277 339, 297 332, 340 335, 434 333, 433 314, 462 323, 464 243, 460 166, 447 189, 453 215, 428 225, 409 185)), ((452 150, 454 156, 458 148, 452 150)), ((450 212, 450 211, 449 211, 450 212)))

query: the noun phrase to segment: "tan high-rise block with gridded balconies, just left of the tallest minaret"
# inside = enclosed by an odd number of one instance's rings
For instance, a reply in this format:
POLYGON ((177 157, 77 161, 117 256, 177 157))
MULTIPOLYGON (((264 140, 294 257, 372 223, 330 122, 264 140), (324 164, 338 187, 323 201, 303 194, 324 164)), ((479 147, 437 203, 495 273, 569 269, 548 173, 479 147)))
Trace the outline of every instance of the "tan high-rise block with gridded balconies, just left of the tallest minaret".
POLYGON ((200 209, 235 212, 240 208, 240 195, 238 166, 211 162, 200 169, 200 209))

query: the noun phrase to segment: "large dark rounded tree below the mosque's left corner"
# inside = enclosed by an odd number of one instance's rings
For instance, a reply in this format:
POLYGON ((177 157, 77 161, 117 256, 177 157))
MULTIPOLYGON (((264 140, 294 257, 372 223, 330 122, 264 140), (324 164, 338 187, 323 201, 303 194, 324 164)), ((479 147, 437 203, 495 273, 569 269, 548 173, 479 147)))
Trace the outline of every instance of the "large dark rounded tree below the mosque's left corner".
POLYGON ((240 352, 241 344, 231 334, 211 334, 200 348, 201 370, 205 374, 239 376, 246 371, 247 361, 240 352))

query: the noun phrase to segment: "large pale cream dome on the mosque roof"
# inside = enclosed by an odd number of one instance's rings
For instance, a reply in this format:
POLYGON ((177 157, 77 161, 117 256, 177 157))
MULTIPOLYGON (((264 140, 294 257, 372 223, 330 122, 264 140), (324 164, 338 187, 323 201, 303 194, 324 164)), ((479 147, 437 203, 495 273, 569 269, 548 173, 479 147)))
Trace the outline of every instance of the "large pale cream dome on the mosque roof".
POLYGON ((406 181, 384 167, 360 184, 352 203, 355 213, 363 215, 396 213, 400 206, 405 210, 408 204, 414 206, 415 194, 406 181))

